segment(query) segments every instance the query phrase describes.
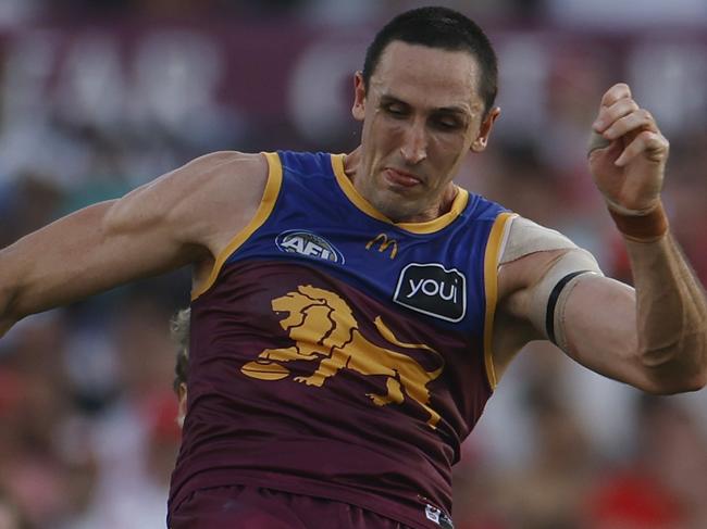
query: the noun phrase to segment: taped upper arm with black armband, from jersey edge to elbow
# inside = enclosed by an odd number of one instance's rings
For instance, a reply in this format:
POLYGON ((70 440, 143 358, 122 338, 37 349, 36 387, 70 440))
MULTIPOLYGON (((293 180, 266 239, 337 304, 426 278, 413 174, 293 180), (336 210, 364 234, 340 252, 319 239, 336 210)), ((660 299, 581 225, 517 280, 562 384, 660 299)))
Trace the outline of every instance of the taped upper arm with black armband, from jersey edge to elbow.
POLYGON ((633 288, 604 277, 588 252, 553 230, 524 221, 511 236, 517 250, 499 270, 498 320, 506 326, 494 328, 495 341, 508 344, 494 350, 499 370, 528 341, 547 339, 600 375, 649 389, 633 288))

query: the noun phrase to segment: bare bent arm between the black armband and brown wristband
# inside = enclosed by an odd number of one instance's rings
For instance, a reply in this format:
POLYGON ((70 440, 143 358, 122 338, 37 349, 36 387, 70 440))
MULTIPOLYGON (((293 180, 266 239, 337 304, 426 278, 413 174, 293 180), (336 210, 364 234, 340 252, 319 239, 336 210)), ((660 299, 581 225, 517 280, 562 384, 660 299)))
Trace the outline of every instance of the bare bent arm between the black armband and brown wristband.
POLYGON ((650 393, 696 391, 707 382, 704 291, 671 235, 627 241, 635 290, 605 277, 579 278, 557 307, 562 349, 581 364, 650 393))

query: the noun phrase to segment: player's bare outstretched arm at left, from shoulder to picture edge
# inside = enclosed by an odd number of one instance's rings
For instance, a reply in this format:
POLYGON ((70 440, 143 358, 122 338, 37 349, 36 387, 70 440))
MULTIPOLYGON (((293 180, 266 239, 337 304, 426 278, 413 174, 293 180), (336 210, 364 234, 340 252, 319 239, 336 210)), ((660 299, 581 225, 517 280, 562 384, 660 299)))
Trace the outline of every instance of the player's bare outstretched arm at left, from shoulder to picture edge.
POLYGON ((208 270, 262 196, 266 163, 220 152, 0 251, 0 336, 22 317, 186 264, 208 270))

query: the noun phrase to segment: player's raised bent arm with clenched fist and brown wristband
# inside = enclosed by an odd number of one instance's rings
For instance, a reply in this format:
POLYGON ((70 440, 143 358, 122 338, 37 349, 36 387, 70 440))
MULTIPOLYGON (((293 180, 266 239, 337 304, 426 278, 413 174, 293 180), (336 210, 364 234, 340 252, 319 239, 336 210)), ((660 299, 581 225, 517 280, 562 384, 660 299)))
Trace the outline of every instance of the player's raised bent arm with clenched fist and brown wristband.
POLYGON ((593 128, 590 168, 625 239, 635 290, 599 274, 558 275, 567 253, 541 252, 500 270, 499 280, 519 284, 504 307, 533 323, 529 336, 547 338, 549 328, 599 374, 650 393, 698 390, 707 383, 707 300, 660 202, 668 141, 623 84, 605 93, 593 128))

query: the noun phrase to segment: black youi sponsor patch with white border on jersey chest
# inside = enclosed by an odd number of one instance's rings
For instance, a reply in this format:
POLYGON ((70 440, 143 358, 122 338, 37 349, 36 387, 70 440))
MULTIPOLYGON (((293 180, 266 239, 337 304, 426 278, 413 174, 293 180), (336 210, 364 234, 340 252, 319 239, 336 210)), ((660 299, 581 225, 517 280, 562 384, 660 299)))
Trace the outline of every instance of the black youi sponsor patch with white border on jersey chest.
POLYGON ((467 314, 467 279, 456 268, 438 263, 412 263, 402 268, 393 301, 447 322, 467 314))

